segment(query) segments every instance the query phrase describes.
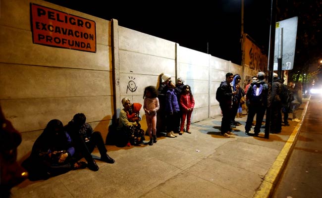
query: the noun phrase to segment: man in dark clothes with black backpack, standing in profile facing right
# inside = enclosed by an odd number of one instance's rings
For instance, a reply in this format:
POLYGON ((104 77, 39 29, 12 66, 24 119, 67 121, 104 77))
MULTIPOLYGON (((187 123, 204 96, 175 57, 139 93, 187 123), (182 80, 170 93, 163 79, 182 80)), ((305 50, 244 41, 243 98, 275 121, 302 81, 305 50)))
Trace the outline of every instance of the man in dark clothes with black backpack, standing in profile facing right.
POLYGON ((220 83, 216 91, 216 100, 219 102, 219 106, 222 112, 220 134, 224 137, 229 138, 231 134, 230 130, 230 119, 232 115, 231 105, 232 97, 237 94, 237 91, 232 90, 231 82, 234 76, 228 72, 226 74, 226 80, 220 83))

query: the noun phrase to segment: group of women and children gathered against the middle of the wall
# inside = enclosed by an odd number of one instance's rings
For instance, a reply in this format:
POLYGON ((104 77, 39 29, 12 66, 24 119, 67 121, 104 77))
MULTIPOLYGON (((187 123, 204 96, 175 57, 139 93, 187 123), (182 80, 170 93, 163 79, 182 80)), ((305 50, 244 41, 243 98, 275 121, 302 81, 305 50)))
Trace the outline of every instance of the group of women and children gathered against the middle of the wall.
MULTIPOLYGON (((189 85, 184 85, 183 78, 177 78, 175 84, 168 74, 160 75, 163 82, 157 89, 155 86, 148 86, 143 93, 143 110, 146 116, 147 132, 149 135, 149 145, 157 143, 157 135, 165 132, 165 136, 175 138, 178 133, 182 135, 184 131, 190 132, 191 115, 195 100, 189 85), (187 120, 186 129, 184 129, 187 120), (158 133, 158 134, 157 134, 158 133)), ((145 131, 141 129, 139 121, 141 116, 139 111, 141 104, 132 103, 129 98, 122 99, 123 109, 119 115, 119 125, 117 133, 125 133, 127 145, 139 146, 144 143, 145 131), (133 113, 133 116, 130 116, 133 113)))

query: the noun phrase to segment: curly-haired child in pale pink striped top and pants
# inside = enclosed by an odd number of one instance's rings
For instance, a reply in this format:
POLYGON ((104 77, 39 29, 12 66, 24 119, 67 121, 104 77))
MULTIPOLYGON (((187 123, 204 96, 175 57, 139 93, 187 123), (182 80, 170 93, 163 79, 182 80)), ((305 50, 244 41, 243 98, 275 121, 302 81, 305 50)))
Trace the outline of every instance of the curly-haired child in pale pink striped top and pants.
POLYGON ((143 99, 143 109, 150 137, 149 145, 152 146, 153 143, 157 143, 157 111, 160 108, 157 89, 154 86, 146 87, 144 89, 143 99))

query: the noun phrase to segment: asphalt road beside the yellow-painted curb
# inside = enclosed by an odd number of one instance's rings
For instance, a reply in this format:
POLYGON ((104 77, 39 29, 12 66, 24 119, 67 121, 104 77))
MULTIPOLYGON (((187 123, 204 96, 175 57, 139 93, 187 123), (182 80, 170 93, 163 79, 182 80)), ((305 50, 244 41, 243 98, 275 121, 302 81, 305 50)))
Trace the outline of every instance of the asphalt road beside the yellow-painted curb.
POLYGON ((322 95, 312 96, 297 142, 272 198, 322 197, 322 95))

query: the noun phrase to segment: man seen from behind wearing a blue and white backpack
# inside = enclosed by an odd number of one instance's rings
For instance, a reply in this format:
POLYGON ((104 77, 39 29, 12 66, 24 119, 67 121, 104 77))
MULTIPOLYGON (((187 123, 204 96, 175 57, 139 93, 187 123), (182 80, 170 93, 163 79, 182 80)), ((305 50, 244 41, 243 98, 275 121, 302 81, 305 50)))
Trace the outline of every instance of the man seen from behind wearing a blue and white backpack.
POLYGON ((245 125, 245 134, 249 134, 249 131, 252 128, 254 116, 256 114, 254 136, 258 136, 258 134, 261 132, 268 97, 268 84, 265 82, 265 73, 258 72, 257 78, 258 80, 251 83, 246 93, 246 102, 249 103, 249 108, 245 125))

